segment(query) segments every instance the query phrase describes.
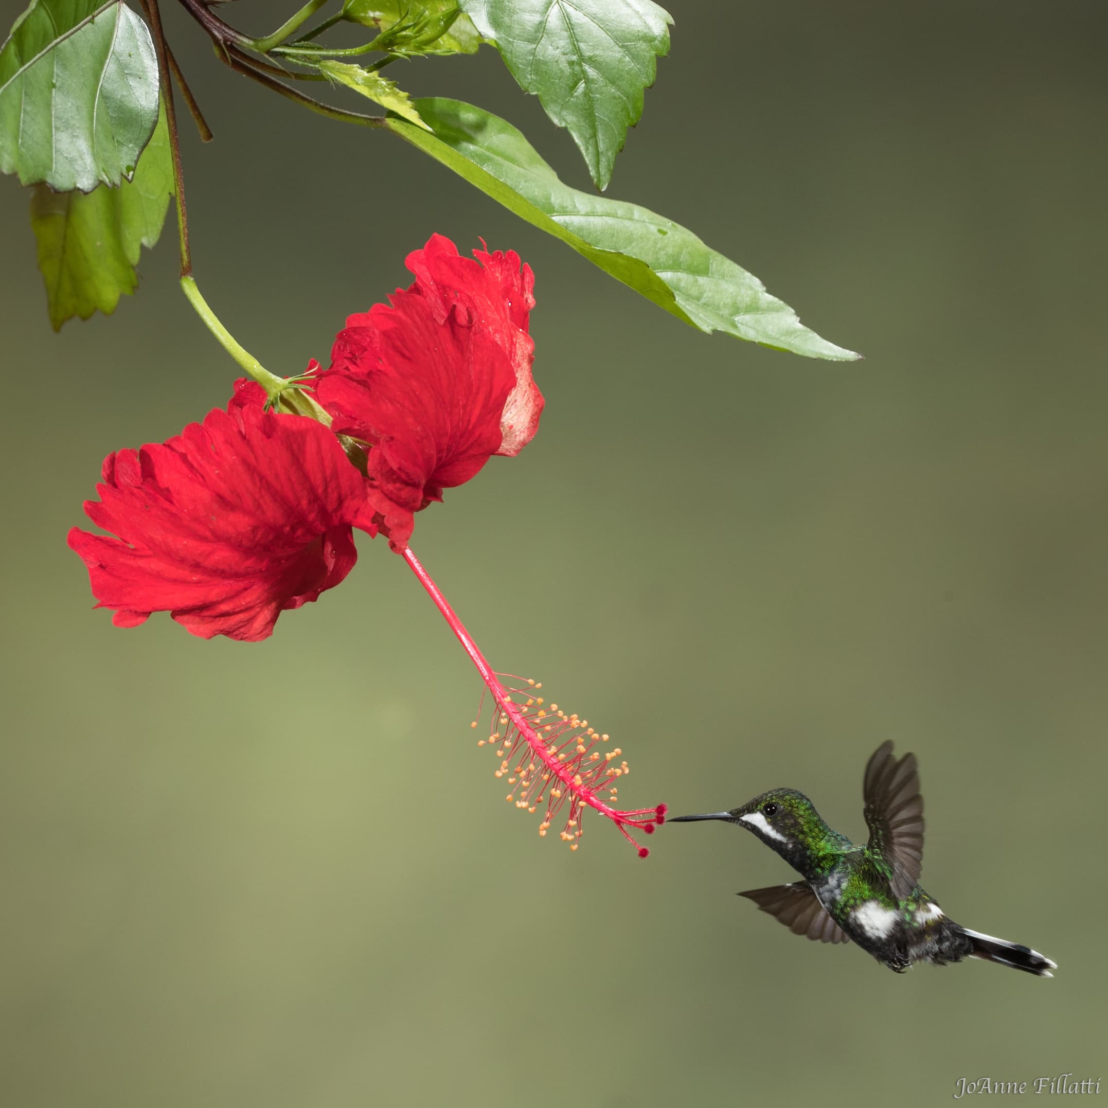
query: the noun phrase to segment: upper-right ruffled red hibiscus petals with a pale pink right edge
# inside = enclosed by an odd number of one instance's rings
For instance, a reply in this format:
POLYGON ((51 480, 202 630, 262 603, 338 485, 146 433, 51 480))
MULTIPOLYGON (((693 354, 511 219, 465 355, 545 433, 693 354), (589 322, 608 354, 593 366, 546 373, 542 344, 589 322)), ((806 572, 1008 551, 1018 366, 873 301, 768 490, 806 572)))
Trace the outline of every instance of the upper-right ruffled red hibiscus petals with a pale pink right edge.
POLYGON ((480 256, 485 266, 433 236, 408 258, 411 288, 351 316, 318 378, 331 429, 372 448, 369 499, 393 550, 407 545, 414 512, 492 454, 519 452, 538 423, 531 270, 515 254, 480 256))

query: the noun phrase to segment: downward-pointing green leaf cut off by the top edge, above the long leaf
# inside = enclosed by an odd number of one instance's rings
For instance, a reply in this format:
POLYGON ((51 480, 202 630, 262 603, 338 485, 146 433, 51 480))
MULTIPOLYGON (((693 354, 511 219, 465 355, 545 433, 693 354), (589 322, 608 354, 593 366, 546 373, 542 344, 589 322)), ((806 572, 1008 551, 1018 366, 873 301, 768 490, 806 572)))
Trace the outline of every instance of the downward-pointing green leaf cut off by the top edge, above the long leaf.
POLYGON ((650 0, 460 0, 524 92, 568 127, 596 187, 643 114, 673 18, 650 0))

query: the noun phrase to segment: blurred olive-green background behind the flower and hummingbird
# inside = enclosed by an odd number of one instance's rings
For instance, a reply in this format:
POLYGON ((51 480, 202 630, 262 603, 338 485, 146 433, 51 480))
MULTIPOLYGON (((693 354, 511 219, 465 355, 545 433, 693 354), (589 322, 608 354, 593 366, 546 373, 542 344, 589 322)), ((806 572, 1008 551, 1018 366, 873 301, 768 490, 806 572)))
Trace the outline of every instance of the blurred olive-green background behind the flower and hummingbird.
MULTIPOLYGON (((172 226, 113 318, 53 335, 4 178, 0 1102, 914 1106, 1102 1076, 1108 8, 674 8, 611 194, 856 365, 683 326, 163 8, 216 132, 185 131, 197 277, 268 368, 326 358, 434 230, 534 267, 542 432, 413 541, 494 664, 612 732, 628 804, 784 784, 860 837, 893 738, 922 762, 926 886, 1060 970, 900 977, 796 938, 733 895, 790 871, 722 824, 664 828, 645 862, 597 819, 576 854, 540 840, 383 542, 260 645, 114 629, 65 531, 105 453, 225 402, 236 367, 172 226)), ((587 186, 493 51, 396 69, 587 186)))

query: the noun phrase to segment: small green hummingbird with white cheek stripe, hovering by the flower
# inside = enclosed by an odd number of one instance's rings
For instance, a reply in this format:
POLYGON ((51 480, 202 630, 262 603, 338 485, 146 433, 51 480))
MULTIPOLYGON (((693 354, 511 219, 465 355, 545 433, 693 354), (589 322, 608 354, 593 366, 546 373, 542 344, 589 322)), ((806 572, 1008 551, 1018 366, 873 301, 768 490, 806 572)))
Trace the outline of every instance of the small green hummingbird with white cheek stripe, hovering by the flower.
POLYGON ((739 893, 794 935, 823 943, 853 940, 890 970, 913 962, 946 965, 965 957, 1053 977, 1057 965, 1017 943, 963 927, 920 888, 923 797, 915 755, 899 761, 883 742, 862 784, 870 841, 863 847, 832 831, 796 789, 773 789, 727 812, 671 817, 667 823, 724 820, 753 831, 803 881, 739 893))

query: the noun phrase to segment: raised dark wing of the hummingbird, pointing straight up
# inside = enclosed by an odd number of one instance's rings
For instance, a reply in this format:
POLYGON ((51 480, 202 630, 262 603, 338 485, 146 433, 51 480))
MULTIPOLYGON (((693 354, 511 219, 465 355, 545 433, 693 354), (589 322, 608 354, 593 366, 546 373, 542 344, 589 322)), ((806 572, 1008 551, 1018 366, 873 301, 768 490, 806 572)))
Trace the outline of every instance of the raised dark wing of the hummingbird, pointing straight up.
POLYGON ((915 755, 897 761, 892 741, 882 742, 866 763, 862 796, 870 850, 892 870, 893 894, 906 900, 923 869, 923 797, 915 755))

